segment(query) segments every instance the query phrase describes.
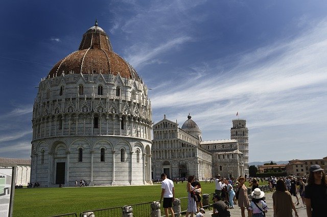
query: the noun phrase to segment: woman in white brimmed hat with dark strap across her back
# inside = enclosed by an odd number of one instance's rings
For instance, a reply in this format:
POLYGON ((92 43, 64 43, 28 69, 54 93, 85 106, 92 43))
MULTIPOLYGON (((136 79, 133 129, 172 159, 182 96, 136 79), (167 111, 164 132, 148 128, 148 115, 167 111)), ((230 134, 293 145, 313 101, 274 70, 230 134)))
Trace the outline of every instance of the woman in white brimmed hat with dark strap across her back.
POLYGON ((251 211, 252 217, 265 216, 264 212, 268 211, 267 204, 263 201, 265 193, 260 190, 260 188, 254 188, 251 194, 252 201, 249 205, 249 210, 251 211))

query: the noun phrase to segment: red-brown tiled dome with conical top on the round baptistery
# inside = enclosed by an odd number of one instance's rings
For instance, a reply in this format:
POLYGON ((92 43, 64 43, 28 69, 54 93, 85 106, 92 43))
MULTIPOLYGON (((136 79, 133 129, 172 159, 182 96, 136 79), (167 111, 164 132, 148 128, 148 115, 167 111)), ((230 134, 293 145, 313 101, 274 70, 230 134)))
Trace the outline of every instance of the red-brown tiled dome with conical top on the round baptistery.
POLYGON ((92 26, 83 35, 79 50, 60 60, 49 72, 50 77, 61 73, 120 74, 122 77, 140 80, 136 71, 112 51, 109 37, 103 29, 92 26))

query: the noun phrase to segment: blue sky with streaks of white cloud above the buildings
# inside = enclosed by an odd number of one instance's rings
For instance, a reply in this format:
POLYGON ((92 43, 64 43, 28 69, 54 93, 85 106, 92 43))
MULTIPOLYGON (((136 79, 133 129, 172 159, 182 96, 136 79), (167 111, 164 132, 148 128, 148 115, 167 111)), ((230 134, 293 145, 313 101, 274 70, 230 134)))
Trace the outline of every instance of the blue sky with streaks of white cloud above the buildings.
POLYGON ((0 3, 0 157, 29 158, 40 79, 98 19, 143 77, 153 122, 189 113, 204 140, 247 120, 249 161, 327 156, 326 1, 0 3))

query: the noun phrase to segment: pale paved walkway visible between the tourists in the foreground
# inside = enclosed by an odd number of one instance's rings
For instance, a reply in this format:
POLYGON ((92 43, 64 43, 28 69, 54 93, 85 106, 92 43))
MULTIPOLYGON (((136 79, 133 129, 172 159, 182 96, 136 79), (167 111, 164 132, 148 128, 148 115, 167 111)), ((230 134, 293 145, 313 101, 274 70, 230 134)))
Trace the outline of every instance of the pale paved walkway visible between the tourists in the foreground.
MULTIPOLYGON (((293 198, 294 204, 296 204, 296 198, 293 198)), ((295 206, 297 213, 299 217, 305 217, 307 216, 307 211, 306 207, 301 207, 302 202, 301 199, 299 198, 300 205, 295 206)), ((266 203, 269 207, 268 212, 266 212, 266 217, 273 217, 273 209, 272 209, 272 193, 266 193, 266 203)), ((241 209, 238 207, 238 205, 235 205, 234 209, 228 209, 230 212, 230 216, 241 216, 241 209)), ((205 214, 203 214, 205 217, 211 217, 211 214, 213 213, 213 210, 205 210, 205 214)), ((247 211, 245 210, 245 216, 247 217, 247 211)), ((293 211, 293 216, 295 216, 294 211, 293 211)), ((195 215, 194 215, 195 217, 195 215)))

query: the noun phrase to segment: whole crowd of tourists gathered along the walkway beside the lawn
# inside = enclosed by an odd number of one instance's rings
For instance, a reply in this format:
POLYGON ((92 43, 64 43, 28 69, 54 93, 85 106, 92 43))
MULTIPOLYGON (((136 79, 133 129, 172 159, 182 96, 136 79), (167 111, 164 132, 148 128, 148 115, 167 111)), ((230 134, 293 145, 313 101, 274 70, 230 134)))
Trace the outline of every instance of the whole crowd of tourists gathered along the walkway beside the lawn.
MULTIPOLYGON (((324 170, 319 165, 310 167, 309 176, 288 176, 288 177, 269 177, 253 178, 240 176, 236 178, 224 178, 217 174, 215 178, 205 178, 205 182, 215 182, 215 194, 213 197, 213 217, 230 216, 228 209, 235 208, 238 205, 241 209, 241 216, 265 216, 268 208, 272 208, 276 217, 298 216, 296 206, 306 207, 307 216, 327 216, 324 207, 327 204, 327 179, 324 170), (245 182, 248 181, 251 188, 251 194, 248 195, 245 182), (265 203, 265 193, 259 188, 259 183, 267 183, 272 194, 273 207, 268 207, 265 203), (293 203, 292 197, 295 197, 296 204, 293 203), (245 210, 247 213, 245 213, 245 210)), ((161 175, 162 194, 166 216, 174 216, 172 202, 175 199, 174 182, 179 183, 181 178, 167 179, 166 174, 161 175), (165 192, 171 193, 165 195, 165 192), (166 197, 165 197, 166 196, 166 197), (166 198, 166 199, 165 199, 166 198), (167 199, 169 198, 169 200, 167 199), (168 201, 167 201, 168 200, 168 201), (166 201, 166 202, 165 202, 166 201)), ((189 176, 186 184, 188 192, 188 208, 186 217, 203 216, 205 213, 202 208, 202 188, 195 176, 189 176)), ((161 201, 160 199, 160 201, 161 201)))

